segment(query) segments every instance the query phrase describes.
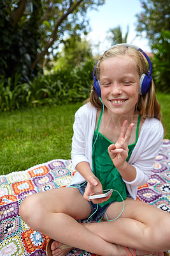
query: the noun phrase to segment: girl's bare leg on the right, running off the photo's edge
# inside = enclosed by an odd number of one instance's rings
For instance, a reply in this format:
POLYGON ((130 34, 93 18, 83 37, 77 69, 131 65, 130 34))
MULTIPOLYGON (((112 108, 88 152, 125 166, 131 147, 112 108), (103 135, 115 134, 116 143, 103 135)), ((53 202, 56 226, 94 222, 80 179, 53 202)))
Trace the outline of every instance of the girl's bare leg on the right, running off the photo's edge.
MULTIPOLYGON (((111 204, 106 211, 108 219, 113 220, 121 211, 122 203, 111 204)), ((124 212, 117 220, 86 227, 106 241, 130 248, 149 252, 169 250, 170 214, 130 198, 125 200, 124 212)))

